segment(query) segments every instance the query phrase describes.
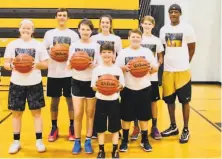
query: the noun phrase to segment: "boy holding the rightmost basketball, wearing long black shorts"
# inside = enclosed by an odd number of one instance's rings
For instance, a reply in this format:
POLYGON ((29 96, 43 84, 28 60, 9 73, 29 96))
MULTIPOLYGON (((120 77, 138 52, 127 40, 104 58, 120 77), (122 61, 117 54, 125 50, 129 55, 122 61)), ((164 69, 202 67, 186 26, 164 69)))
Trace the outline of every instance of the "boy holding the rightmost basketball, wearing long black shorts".
POLYGON ((123 130, 120 151, 125 152, 128 150, 130 122, 135 119, 139 120, 141 127, 141 146, 145 151, 152 151, 147 138, 148 120, 152 117, 150 74, 157 72, 157 64, 152 52, 147 48, 141 47, 142 33, 139 29, 133 29, 129 32, 129 41, 130 46, 123 49, 116 59, 116 64, 124 71, 126 82, 125 88, 120 93, 123 130), (129 61, 137 57, 144 58, 150 64, 150 67, 148 67, 149 72, 140 78, 134 77, 130 73, 131 66, 129 61))

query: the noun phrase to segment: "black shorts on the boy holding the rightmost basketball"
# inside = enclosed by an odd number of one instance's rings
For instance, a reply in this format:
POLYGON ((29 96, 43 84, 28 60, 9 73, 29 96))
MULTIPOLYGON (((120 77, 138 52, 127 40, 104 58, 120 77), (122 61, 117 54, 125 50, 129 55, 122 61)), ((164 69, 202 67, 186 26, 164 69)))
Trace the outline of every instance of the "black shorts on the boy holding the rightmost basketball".
POLYGON ((152 118, 151 112, 151 86, 142 90, 131 90, 124 88, 121 96, 121 119, 124 121, 148 121, 152 118))

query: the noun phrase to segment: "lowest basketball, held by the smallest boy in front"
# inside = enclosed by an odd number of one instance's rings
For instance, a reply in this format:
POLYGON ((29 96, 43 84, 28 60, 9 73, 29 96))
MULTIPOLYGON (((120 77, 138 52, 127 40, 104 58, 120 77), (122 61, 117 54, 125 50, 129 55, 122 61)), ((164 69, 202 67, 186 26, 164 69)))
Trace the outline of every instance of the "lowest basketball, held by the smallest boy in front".
POLYGON ((118 92, 119 81, 110 74, 105 74, 99 77, 96 83, 98 91, 103 95, 112 95, 118 92))

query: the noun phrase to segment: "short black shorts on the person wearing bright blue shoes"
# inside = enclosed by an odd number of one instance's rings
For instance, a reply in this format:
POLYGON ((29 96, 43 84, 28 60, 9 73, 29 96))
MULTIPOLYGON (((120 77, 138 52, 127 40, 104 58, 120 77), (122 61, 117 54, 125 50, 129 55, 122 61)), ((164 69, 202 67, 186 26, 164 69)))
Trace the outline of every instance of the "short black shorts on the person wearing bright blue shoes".
POLYGON ((72 95, 82 98, 94 98, 95 91, 91 87, 91 81, 79 81, 72 78, 72 95))

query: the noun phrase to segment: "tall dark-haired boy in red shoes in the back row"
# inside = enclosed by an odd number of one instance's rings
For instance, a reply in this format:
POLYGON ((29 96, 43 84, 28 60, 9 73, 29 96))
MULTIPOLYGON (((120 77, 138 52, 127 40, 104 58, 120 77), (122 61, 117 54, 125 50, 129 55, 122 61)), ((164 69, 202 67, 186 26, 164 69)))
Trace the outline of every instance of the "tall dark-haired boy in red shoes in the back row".
MULTIPOLYGON (((55 29, 51 29, 45 33, 43 43, 45 47, 52 54, 52 49, 56 45, 63 45, 69 48, 71 43, 79 40, 78 34, 67 28, 67 22, 69 20, 69 12, 66 8, 59 8, 56 10, 55 19, 57 20, 58 26, 55 29)), ((67 103, 67 109, 69 112, 69 129, 68 129, 68 140, 73 141, 75 139, 74 134, 74 113, 73 103, 71 95, 71 79, 72 72, 67 70, 66 62, 58 62, 55 59, 49 59, 49 68, 47 76, 47 96, 50 97, 50 112, 51 112, 51 123, 52 128, 48 136, 48 141, 54 142, 59 136, 59 127, 57 126, 58 112, 60 97, 64 96, 67 103)))

